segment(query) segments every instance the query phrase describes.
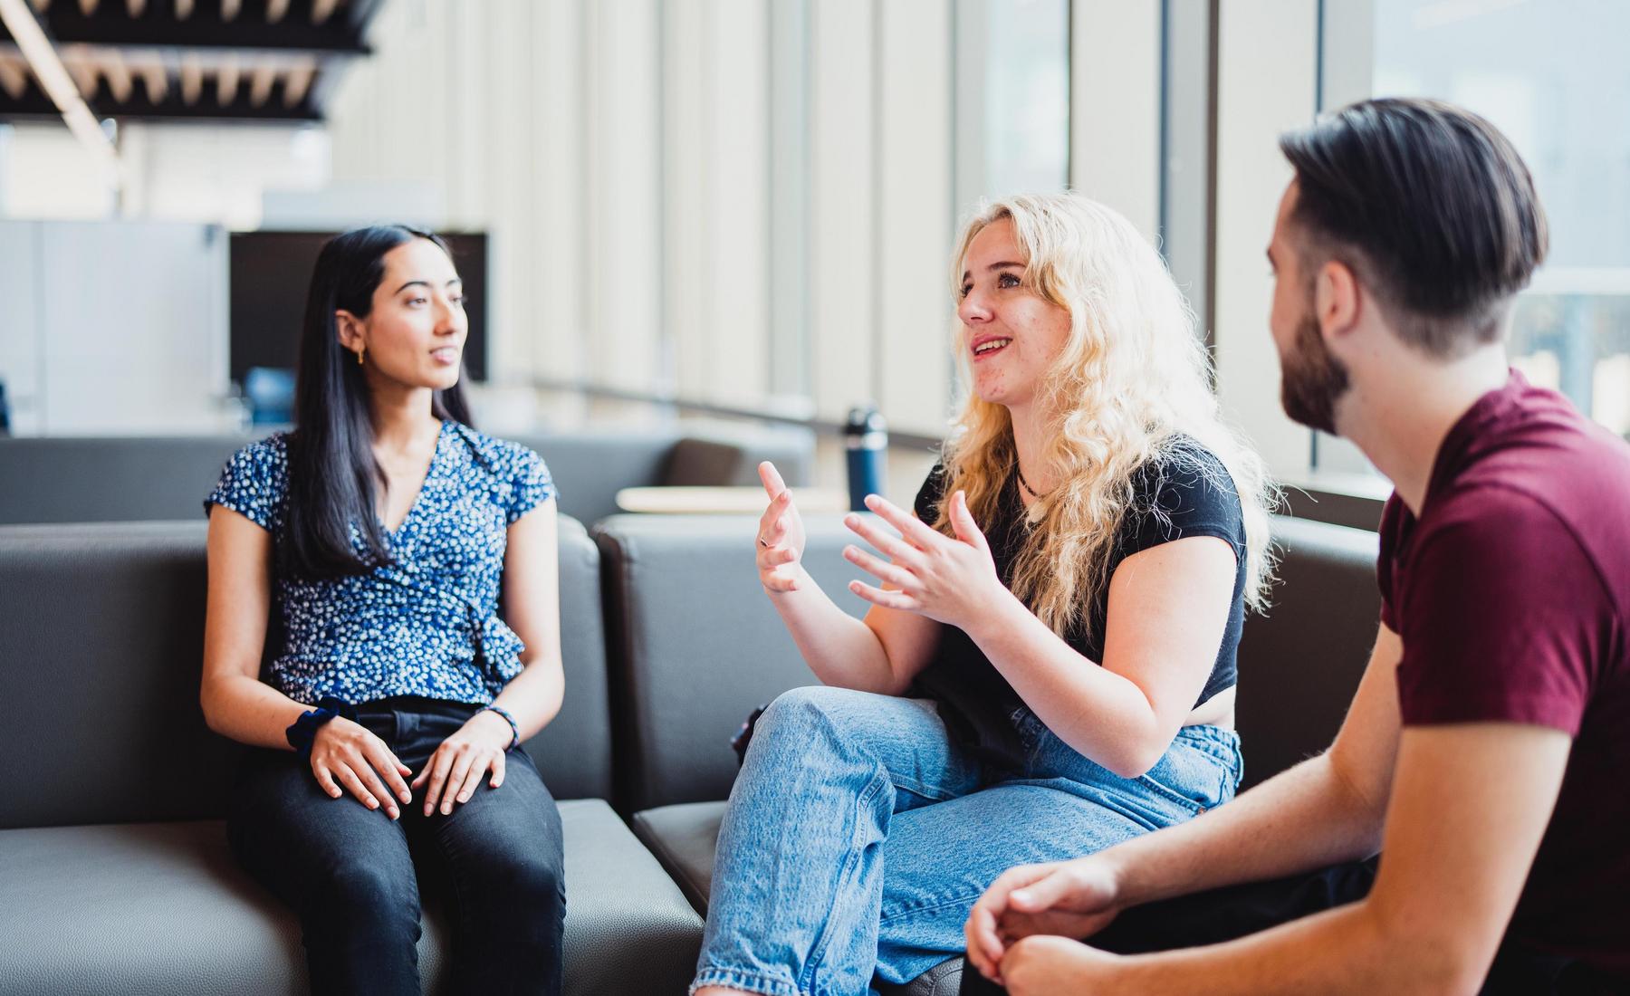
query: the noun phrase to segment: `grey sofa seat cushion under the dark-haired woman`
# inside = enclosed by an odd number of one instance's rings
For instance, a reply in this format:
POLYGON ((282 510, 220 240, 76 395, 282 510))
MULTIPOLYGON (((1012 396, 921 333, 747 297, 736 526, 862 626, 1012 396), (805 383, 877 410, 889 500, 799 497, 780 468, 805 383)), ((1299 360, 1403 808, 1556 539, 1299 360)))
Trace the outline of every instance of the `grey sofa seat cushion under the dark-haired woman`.
MULTIPOLYGON (((600 800, 561 804, 566 991, 683 991, 701 919, 600 800)), ((0 830, 0 989, 305 993, 300 924, 238 869, 225 825, 0 830)), ((448 932, 425 908, 419 965, 447 989, 448 932)))

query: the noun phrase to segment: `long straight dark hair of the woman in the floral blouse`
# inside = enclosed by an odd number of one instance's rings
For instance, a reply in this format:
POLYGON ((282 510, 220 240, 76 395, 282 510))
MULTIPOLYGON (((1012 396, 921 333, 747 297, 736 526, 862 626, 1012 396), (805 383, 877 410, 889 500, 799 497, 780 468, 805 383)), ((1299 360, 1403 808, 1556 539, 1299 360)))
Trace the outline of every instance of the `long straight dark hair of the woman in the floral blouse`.
MULTIPOLYGON (((295 377, 295 430, 289 437, 289 522, 279 544, 284 569, 295 575, 363 574, 391 562, 375 512, 385 474, 373 458, 368 381, 355 354, 339 344, 334 313, 367 318, 385 279, 385 254, 416 238, 452 258, 447 243, 429 231, 375 225, 323 243, 311 271, 295 377), (360 551, 352 544, 352 530, 360 551)), ((440 419, 469 425, 461 385, 463 377, 435 391, 430 409, 440 419)))

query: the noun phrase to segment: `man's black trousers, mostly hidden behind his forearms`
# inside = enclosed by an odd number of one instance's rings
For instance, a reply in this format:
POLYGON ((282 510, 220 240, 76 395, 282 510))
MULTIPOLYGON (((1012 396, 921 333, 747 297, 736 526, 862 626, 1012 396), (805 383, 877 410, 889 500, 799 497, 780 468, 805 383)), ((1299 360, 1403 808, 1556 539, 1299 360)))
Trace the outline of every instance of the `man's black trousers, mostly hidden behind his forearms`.
MULTIPOLYGON (((1094 947, 1115 954, 1144 954, 1221 944, 1322 910, 1345 906, 1369 895, 1376 861, 1340 864, 1309 875, 1273 882, 1231 885, 1195 895, 1161 900, 1126 910, 1100 934, 1094 947)), ((1495 955, 1483 996, 1606 996, 1623 983, 1599 976, 1583 962, 1524 950, 1508 941, 1495 955)), ((962 996, 1004 993, 980 970, 963 962, 962 996)))

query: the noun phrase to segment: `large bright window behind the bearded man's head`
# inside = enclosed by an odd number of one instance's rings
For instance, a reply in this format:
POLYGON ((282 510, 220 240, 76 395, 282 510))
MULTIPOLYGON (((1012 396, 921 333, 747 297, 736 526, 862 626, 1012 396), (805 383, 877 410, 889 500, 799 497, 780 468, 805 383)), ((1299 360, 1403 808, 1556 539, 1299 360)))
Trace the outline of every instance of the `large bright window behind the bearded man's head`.
MULTIPOLYGON (((1630 435, 1630 5, 1372 0, 1369 93, 1469 108, 1527 161, 1550 258, 1518 300, 1513 364, 1630 435)), ((1327 78, 1351 57, 1327 20, 1327 78)), ((1350 96, 1327 90, 1325 104, 1350 96)), ((1320 469, 1351 466, 1333 440, 1317 452, 1320 469)))

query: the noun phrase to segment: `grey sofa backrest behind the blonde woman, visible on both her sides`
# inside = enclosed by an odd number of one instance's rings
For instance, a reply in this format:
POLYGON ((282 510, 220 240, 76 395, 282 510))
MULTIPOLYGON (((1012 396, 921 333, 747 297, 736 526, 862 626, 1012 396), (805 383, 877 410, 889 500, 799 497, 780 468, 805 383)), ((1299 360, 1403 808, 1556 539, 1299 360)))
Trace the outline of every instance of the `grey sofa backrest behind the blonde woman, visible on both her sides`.
MULTIPOLYGON (((779 693, 815 685, 753 571, 750 517, 618 515, 595 527, 606 584, 616 802, 626 812, 724 799, 730 737, 779 693)), ((846 611, 864 577, 839 517, 805 517, 804 564, 846 611)), ((1283 584, 1249 616, 1239 657, 1247 784, 1328 747, 1376 636, 1376 535, 1276 518, 1283 584)))

